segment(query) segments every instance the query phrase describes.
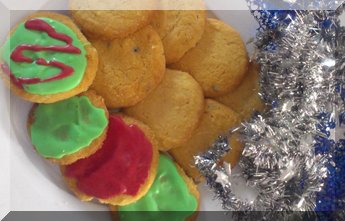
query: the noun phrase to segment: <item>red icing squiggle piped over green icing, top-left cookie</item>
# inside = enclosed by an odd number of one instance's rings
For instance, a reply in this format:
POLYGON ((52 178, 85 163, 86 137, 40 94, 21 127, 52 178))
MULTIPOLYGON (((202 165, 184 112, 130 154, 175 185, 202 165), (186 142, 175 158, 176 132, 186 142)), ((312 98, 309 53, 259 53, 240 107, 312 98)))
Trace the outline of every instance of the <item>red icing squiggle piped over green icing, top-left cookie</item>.
MULTIPOLYGON (((11 54, 11 59, 15 62, 26 62, 26 63, 34 62, 33 59, 26 57, 23 54, 23 51, 27 51, 27 50, 29 51, 56 51, 56 52, 63 52, 63 53, 69 53, 69 54, 81 53, 79 48, 72 45, 73 39, 70 36, 65 35, 63 33, 57 33, 51 25, 49 25, 47 22, 41 19, 31 19, 31 20, 26 21, 25 28, 29 30, 34 30, 34 31, 46 32, 51 38, 63 41, 66 43, 66 45, 63 45, 63 46, 19 45, 13 50, 11 54)), ((37 83, 63 79, 72 75, 74 72, 74 69, 72 67, 58 61, 46 61, 43 58, 38 58, 36 60, 36 64, 43 65, 43 66, 56 67, 56 68, 59 68, 61 71, 60 73, 58 73, 57 75, 53 77, 42 80, 40 78, 17 78, 13 75, 13 73, 11 72, 7 64, 1 65, 1 68, 7 75, 10 76, 12 82, 20 88, 23 88, 23 84, 37 84, 37 83)))

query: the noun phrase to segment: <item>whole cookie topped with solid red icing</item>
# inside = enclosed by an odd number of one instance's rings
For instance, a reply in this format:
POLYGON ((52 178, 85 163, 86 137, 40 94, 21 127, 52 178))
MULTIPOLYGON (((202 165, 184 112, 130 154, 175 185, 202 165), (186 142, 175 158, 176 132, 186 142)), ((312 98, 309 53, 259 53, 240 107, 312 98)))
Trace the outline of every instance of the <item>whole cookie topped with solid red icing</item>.
POLYGON ((127 205, 139 200, 156 176, 157 141, 143 123, 111 115, 107 138, 94 155, 61 167, 67 185, 83 201, 127 205))

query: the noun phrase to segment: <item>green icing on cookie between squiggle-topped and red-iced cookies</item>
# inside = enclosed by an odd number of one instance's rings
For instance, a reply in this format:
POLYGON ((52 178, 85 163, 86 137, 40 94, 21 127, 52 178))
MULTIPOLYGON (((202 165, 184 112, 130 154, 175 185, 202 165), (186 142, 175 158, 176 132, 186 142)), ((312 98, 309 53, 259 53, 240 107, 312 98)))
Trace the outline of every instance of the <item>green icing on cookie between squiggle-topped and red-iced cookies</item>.
POLYGON ((108 125, 102 108, 86 96, 53 104, 40 104, 34 111, 31 140, 44 157, 61 159, 87 147, 108 125))

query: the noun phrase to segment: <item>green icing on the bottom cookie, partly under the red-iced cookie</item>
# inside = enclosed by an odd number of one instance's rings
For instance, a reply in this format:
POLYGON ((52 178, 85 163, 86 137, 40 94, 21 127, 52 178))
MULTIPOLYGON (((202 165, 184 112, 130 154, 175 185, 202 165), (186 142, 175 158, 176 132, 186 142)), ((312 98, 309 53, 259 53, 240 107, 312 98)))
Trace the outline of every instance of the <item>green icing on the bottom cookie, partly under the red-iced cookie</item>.
POLYGON ((189 192, 175 164, 161 154, 157 175, 148 193, 118 210, 122 221, 182 221, 192 215, 197 206, 196 198, 189 192))

